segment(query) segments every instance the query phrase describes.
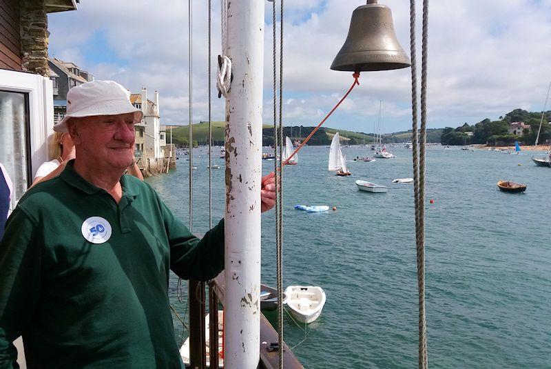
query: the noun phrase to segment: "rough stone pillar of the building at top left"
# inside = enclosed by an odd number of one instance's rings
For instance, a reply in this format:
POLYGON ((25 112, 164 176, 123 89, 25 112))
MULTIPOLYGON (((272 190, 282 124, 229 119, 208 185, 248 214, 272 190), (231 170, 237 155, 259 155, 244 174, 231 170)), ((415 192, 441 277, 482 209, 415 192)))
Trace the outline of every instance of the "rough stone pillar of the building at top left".
POLYGON ((44 0, 19 1, 21 59, 25 71, 48 77, 48 17, 44 0))

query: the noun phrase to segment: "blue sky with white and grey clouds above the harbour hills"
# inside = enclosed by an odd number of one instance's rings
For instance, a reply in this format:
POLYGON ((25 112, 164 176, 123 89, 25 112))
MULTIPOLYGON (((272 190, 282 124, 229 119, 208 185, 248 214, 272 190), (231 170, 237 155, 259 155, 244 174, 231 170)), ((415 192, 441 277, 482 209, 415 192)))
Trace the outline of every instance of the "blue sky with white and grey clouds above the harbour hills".
MULTIPOLYGON (((209 16, 207 1, 191 1, 192 120, 197 123, 208 120, 209 16)), ((391 8, 397 38, 409 55, 409 1, 379 2, 391 8)), ((263 120, 272 124, 272 3, 265 4, 263 120)), ((284 1, 284 125, 317 125, 351 85, 350 72, 329 67, 346 39, 353 10, 362 4, 284 1)), ((430 1, 428 14, 428 128, 498 119, 516 108, 543 110, 551 81, 551 0, 430 1)), ((224 101, 214 84, 221 50, 219 1, 212 1, 211 17, 211 114, 221 121, 224 101)), ((161 123, 189 122, 188 1, 81 0, 77 11, 49 14, 48 22, 51 57, 72 61, 96 79, 117 81, 134 93, 142 86, 151 96, 158 90, 161 123)), ((276 26, 279 32, 279 20, 276 26)), ((382 101, 383 132, 411 128, 410 68, 363 72, 360 83, 325 126, 373 132, 382 101)))

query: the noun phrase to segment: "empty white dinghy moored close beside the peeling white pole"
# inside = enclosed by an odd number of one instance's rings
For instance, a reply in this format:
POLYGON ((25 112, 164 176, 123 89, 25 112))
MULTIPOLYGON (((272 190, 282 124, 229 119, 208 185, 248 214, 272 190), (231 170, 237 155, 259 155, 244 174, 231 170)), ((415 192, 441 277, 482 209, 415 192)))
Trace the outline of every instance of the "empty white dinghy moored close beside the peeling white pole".
POLYGON ((285 295, 291 315, 301 323, 311 323, 320 317, 326 299, 321 287, 289 286, 285 295))

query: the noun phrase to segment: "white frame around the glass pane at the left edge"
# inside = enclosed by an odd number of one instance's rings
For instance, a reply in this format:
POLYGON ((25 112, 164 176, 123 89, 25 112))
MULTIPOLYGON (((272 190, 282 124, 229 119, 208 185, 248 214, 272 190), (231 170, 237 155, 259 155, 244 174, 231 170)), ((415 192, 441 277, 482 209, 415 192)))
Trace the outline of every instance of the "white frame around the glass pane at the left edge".
MULTIPOLYGON (((0 90, 28 94, 31 174, 48 161, 48 135, 54 127, 54 89, 48 77, 0 70, 0 90)), ((30 186, 30 183, 29 183, 30 186)))

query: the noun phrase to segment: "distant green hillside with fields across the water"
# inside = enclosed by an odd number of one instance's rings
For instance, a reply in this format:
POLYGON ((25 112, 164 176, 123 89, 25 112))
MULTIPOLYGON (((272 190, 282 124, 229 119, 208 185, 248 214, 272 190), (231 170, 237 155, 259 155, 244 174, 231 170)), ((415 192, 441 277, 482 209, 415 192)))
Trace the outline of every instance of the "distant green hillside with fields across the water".
MULTIPOLYGON (((188 137, 189 137, 189 126, 173 126, 172 128, 172 141, 178 147, 188 147, 188 137)), ((212 122, 212 139, 214 145, 222 145, 224 143, 225 135, 225 122, 223 121, 213 121, 212 122)), ((314 127, 304 127, 304 126, 287 126, 283 128, 283 135, 291 138, 292 141, 299 140, 302 141, 314 127)), ((373 134, 367 134, 364 132, 352 132, 349 130, 337 130, 335 128, 325 128, 322 127, 318 132, 315 132, 311 140, 309 141, 310 146, 316 145, 330 145, 331 140, 336 132, 339 132, 342 143, 348 145, 361 145, 372 143, 374 140, 373 134)), ((167 132, 168 133, 168 132, 167 132)), ((428 142, 439 142, 440 141, 441 129, 427 130, 427 141, 428 142)), ((209 123, 200 122, 193 125, 193 135, 194 135, 194 146, 206 145, 208 143, 209 137, 209 123)), ((393 134, 385 134, 383 137, 383 142, 405 142, 410 141, 411 131, 396 132, 393 134)), ((262 129, 262 145, 271 146, 273 145, 273 127, 269 125, 264 125, 262 129)))

